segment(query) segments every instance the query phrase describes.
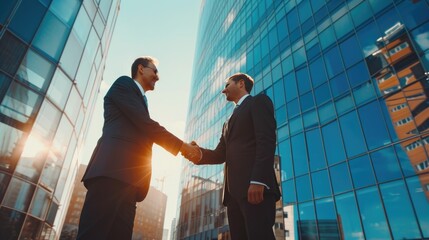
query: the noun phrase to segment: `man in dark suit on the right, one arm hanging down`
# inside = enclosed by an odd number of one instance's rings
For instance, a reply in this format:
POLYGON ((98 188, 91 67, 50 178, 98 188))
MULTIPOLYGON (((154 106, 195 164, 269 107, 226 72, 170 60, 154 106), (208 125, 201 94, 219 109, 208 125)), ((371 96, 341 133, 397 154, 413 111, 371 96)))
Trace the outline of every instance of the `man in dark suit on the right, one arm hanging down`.
MULTIPOLYGON (((195 164, 225 163, 223 204, 233 240, 275 239, 275 203, 280 190, 274 173, 276 121, 270 98, 249 95, 253 79, 237 73, 222 93, 236 104, 214 150, 184 154, 195 164)), ((196 143, 194 143, 196 145, 196 143)))

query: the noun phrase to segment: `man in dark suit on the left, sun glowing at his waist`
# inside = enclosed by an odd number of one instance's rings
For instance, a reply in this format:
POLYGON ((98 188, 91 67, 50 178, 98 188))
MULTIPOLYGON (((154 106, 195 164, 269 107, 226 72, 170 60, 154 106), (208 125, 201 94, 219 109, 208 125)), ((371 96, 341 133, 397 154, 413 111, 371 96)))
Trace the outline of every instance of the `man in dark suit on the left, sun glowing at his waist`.
POLYGON ((131 239, 136 202, 149 189, 152 145, 177 155, 192 149, 149 116, 145 92, 159 80, 156 60, 137 58, 132 78, 119 77, 104 97, 103 134, 82 181, 88 189, 79 240, 131 239))

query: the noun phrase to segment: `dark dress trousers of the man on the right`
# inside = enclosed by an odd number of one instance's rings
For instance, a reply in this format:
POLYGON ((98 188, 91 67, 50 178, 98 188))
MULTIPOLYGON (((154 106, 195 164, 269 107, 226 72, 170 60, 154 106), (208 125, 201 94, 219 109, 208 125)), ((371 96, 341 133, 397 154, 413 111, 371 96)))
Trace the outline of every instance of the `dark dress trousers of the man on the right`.
POLYGON ((264 201, 256 205, 231 196, 227 213, 232 240, 275 240, 276 200, 273 194, 264 194, 264 201))

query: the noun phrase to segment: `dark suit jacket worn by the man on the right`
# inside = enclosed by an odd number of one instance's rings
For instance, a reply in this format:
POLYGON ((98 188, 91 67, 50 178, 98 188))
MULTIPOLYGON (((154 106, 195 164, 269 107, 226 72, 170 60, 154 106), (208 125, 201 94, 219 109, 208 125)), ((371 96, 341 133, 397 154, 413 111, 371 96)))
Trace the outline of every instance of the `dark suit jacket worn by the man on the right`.
POLYGON ((251 181, 266 184, 268 194, 280 197, 274 173, 276 121, 271 99, 265 95, 248 96, 225 122, 214 150, 201 149, 198 164, 225 164, 224 205, 231 195, 247 199, 251 181))

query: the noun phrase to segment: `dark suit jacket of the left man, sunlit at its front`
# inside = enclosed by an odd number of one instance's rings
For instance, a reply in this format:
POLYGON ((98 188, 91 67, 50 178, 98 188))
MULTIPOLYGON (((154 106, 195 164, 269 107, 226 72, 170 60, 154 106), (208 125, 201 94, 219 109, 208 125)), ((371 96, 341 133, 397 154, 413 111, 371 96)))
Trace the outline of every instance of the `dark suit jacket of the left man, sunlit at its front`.
POLYGON ((183 142, 150 118, 134 80, 122 76, 104 97, 103 134, 82 181, 117 179, 136 186, 136 200, 142 201, 150 185, 153 143, 177 155, 183 142))

